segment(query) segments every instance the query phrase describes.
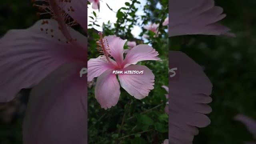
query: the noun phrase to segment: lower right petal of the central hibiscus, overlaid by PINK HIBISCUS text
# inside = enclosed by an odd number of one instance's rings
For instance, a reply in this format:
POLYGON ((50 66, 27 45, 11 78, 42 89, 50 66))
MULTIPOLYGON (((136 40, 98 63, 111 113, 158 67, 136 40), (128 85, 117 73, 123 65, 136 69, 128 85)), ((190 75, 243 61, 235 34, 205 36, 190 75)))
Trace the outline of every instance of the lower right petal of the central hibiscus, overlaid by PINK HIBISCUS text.
POLYGON ((143 74, 119 74, 120 84, 126 92, 137 99, 148 96, 150 90, 154 89, 154 74, 146 66, 131 65, 123 70, 144 70, 143 74))

